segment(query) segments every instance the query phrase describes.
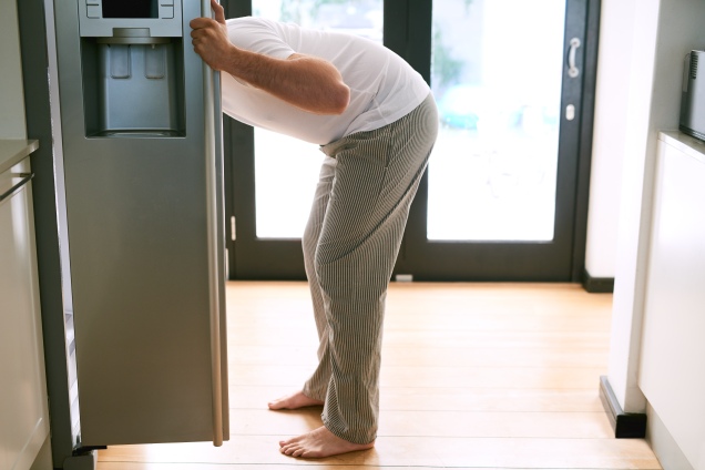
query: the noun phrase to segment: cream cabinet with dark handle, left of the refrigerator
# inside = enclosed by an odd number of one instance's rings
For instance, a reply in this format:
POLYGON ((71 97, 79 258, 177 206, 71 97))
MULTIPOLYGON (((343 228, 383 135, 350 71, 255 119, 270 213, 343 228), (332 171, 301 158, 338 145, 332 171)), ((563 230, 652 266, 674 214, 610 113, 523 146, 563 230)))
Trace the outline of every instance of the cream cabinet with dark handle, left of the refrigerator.
POLYGON ((0 141, 0 470, 29 469, 49 436, 31 181, 25 176, 32 145, 0 141))

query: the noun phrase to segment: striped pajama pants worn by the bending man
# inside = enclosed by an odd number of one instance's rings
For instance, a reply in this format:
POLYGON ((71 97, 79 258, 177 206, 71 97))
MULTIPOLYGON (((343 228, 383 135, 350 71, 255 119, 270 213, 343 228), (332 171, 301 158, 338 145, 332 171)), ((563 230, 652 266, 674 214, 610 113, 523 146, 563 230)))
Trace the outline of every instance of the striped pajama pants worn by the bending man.
POLYGON ((324 425, 349 442, 377 436, 386 293, 437 133, 429 94, 389 125, 321 146, 303 237, 319 364, 303 392, 325 401, 324 425))

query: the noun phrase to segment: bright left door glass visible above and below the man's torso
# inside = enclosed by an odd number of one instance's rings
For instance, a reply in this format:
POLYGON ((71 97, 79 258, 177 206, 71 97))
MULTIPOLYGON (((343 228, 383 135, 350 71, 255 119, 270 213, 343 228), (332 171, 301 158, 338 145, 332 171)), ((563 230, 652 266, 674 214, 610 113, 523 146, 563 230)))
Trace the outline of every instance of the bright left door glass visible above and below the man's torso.
MULTIPOLYGON (((344 31, 382 42, 384 0, 253 0, 253 16, 344 31)), ((300 238, 323 153, 314 144, 255 129, 258 238, 300 238)))

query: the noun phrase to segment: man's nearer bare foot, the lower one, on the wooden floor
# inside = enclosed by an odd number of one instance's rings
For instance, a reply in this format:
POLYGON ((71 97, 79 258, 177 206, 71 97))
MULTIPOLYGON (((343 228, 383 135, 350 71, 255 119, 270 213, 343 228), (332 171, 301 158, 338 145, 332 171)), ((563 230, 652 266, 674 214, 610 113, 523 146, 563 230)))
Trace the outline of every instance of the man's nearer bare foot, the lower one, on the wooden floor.
POLYGON ((371 449, 375 447, 375 441, 370 443, 348 442, 330 432, 325 426, 321 426, 303 436, 279 441, 279 452, 286 456, 320 459, 356 450, 371 449))

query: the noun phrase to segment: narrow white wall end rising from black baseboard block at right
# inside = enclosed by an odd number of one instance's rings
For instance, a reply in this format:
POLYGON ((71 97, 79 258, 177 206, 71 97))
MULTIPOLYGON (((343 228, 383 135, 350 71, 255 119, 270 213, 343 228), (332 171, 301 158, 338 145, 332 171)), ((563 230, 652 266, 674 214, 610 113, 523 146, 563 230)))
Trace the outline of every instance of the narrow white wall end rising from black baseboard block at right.
MULTIPOLYGON (((610 2, 621 0, 610 0, 610 2)), ((651 190, 655 147, 650 149, 652 94, 658 38, 661 0, 631 1, 633 18, 627 80, 624 164, 620 196, 614 307, 607 376, 626 412, 644 412, 646 401, 638 390, 637 368, 651 222, 651 190)), ((612 44, 624 47, 624 44, 612 44)))

